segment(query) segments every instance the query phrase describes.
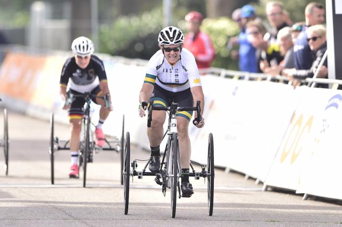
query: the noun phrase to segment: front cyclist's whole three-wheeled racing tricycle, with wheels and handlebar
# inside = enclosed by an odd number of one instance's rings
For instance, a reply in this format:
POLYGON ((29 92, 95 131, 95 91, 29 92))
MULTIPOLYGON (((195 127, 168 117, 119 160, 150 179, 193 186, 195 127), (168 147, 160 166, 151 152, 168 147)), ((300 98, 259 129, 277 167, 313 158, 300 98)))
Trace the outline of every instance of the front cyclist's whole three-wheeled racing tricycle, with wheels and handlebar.
MULTIPOLYGON (((196 107, 178 107, 178 103, 171 104, 170 107, 167 106, 153 106, 153 101, 149 102, 148 106, 148 116, 147 116, 147 127, 151 126, 152 121, 152 111, 154 110, 164 110, 169 113, 169 125, 168 129, 164 133, 162 140, 164 140, 165 136, 168 134, 168 141, 165 148, 165 152, 163 155, 163 160, 161 162, 160 170, 155 172, 145 172, 151 157, 147 160, 134 159, 132 163, 130 163, 130 146, 129 142, 126 143, 125 150, 125 167, 123 169, 122 175, 124 176, 124 205, 125 205, 125 214, 128 213, 128 200, 129 200, 129 178, 138 176, 139 179, 142 179, 143 176, 155 176, 155 182, 162 186, 162 192, 164 196, 166 196, 167 188, 171 189, 171 210, 172 210, 172 218, 175 217, 176 213, 176 197, 177 197, 177 189, 178 196, 181 197, 190 197, 189 195, 181 195, 180 192, 180 184, 179 177, 181 176, 181 159, 178 145, 178 132, 177 132, 177 111, 193 111, 197 110, 197 117, 200 117, 200 102, 197 101, 196 107), (165 161, 166 157, 166 161, 165 161), (137 171, 138 163, 137 161, 147 161, 142 171, 137 171), (162 182, 160 181, 162 178, 162 182)), ((129 133, 126 134, 127 141, 129 141, 129 133)), ((201 165, 201 172, 195 172, 191 162, 190 167, 192 169, 192 173, 189 173, 189 177, 195 177, 195 179, 199 179, 199 177, 208 178, 208 207, 209 207, 209 216, 212 215, 213 211, 213 193, 214 193, 214 159, 213 159, 213 137, 212 134, 209 134, 209 144, 208 144, 208 163, 207 170, 205 169, 205 165, 201 165), (210 168, 210 169, 209 169, 210 168)))

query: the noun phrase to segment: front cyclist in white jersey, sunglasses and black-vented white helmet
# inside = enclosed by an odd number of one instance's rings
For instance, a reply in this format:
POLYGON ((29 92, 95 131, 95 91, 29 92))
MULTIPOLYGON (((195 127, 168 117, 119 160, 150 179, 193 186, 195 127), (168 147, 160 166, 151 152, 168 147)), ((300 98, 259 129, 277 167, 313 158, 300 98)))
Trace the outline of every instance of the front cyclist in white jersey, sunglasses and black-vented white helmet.
MULTIPOLYGON (((199 77, 199 70, 194 55, 183 48, 183 32, 173 26, 162 29, 158 35, 158 50, 149 60, 146 76, 139 95, 139 116, 145 116, 149 101, 156 106, 170 106, 172 101, 179 106, 194 106, 200 101, 201 112, 204 109, 204 96, 199 77)), ((189 139, 189 122, 192 111, 177 112, 177 130, 182 166, 181 190, 185 197, 194 191, 189 182, 189 164, 191 146, 189 139)), ((166 120, 165 111, 152 112, 151 127, 147 128, 147 136, 151 148, 149 170, 156 173, 160 169, 160 144, 163 139, 163 125, 166 120)), ((195 112, 193 124, 198 128, 204 126, 204 118, 198 119, 195 112)))

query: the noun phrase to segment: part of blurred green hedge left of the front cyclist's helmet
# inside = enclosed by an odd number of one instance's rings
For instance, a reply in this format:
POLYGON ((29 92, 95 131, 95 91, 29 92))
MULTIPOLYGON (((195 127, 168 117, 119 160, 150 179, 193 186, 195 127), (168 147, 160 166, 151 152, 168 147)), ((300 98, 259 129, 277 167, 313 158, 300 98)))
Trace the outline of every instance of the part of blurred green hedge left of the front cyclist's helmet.
POLYGON ((101 25, 100 52, 149 59, 158 50, 161 18, 161 9, 153 9, 139 17, 120 16, 112 25, 101 25))

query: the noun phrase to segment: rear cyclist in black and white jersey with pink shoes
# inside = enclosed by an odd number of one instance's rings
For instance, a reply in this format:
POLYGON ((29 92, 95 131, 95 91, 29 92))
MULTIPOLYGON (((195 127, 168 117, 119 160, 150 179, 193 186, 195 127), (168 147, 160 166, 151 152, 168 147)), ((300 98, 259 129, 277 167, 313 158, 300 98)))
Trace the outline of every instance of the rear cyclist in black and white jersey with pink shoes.
MULTIPOLYGON (((96 55, 92 54, 94 52, 92 41, 84 36, 78 37, 72 42, 71 50, 74 56, 65 61, 60 75, 59 93, 63 101, 67 98, 66 90, 68 84, 69 92, 76 95, 84 94, 85 92, 90 92, 95 96, 109 94, 105 67, 102 61, 96 55)), ((102 147, 105 143, 105 135, 103 134, 101 126, 107 119, 111 109, 105 107, 105 101, 103 99, 96 98, 93 101, 101 105, 99 123, 95 129, 95 143, 97 146, 102 147)), ((63 109, 68 109, 71 128, 70 178, 78 178, 79 176, 78 154, 84 104, 85 100, 82 97, 77 97, 68 106, 65 105, 63 107, 63 109)))

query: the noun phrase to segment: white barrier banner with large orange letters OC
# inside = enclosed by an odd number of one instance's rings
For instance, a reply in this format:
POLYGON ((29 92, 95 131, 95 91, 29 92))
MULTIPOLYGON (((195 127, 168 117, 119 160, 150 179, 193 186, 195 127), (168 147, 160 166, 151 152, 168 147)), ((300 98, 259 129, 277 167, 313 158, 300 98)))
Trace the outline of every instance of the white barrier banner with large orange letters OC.
MULTIPOLYGON (((304 175, 303 171, 308 168, 309 160, 317 150, 317 136, 327 121, 326 107, 336 91, 304 86, 298 89, 302 91, 300 103, 287 128, 265 185, 297 190, 301 188, 302 182, 308 179, 308 174, 304 175)), ((323 169, 325 165, 320 163, 319 167, 323 169)))

